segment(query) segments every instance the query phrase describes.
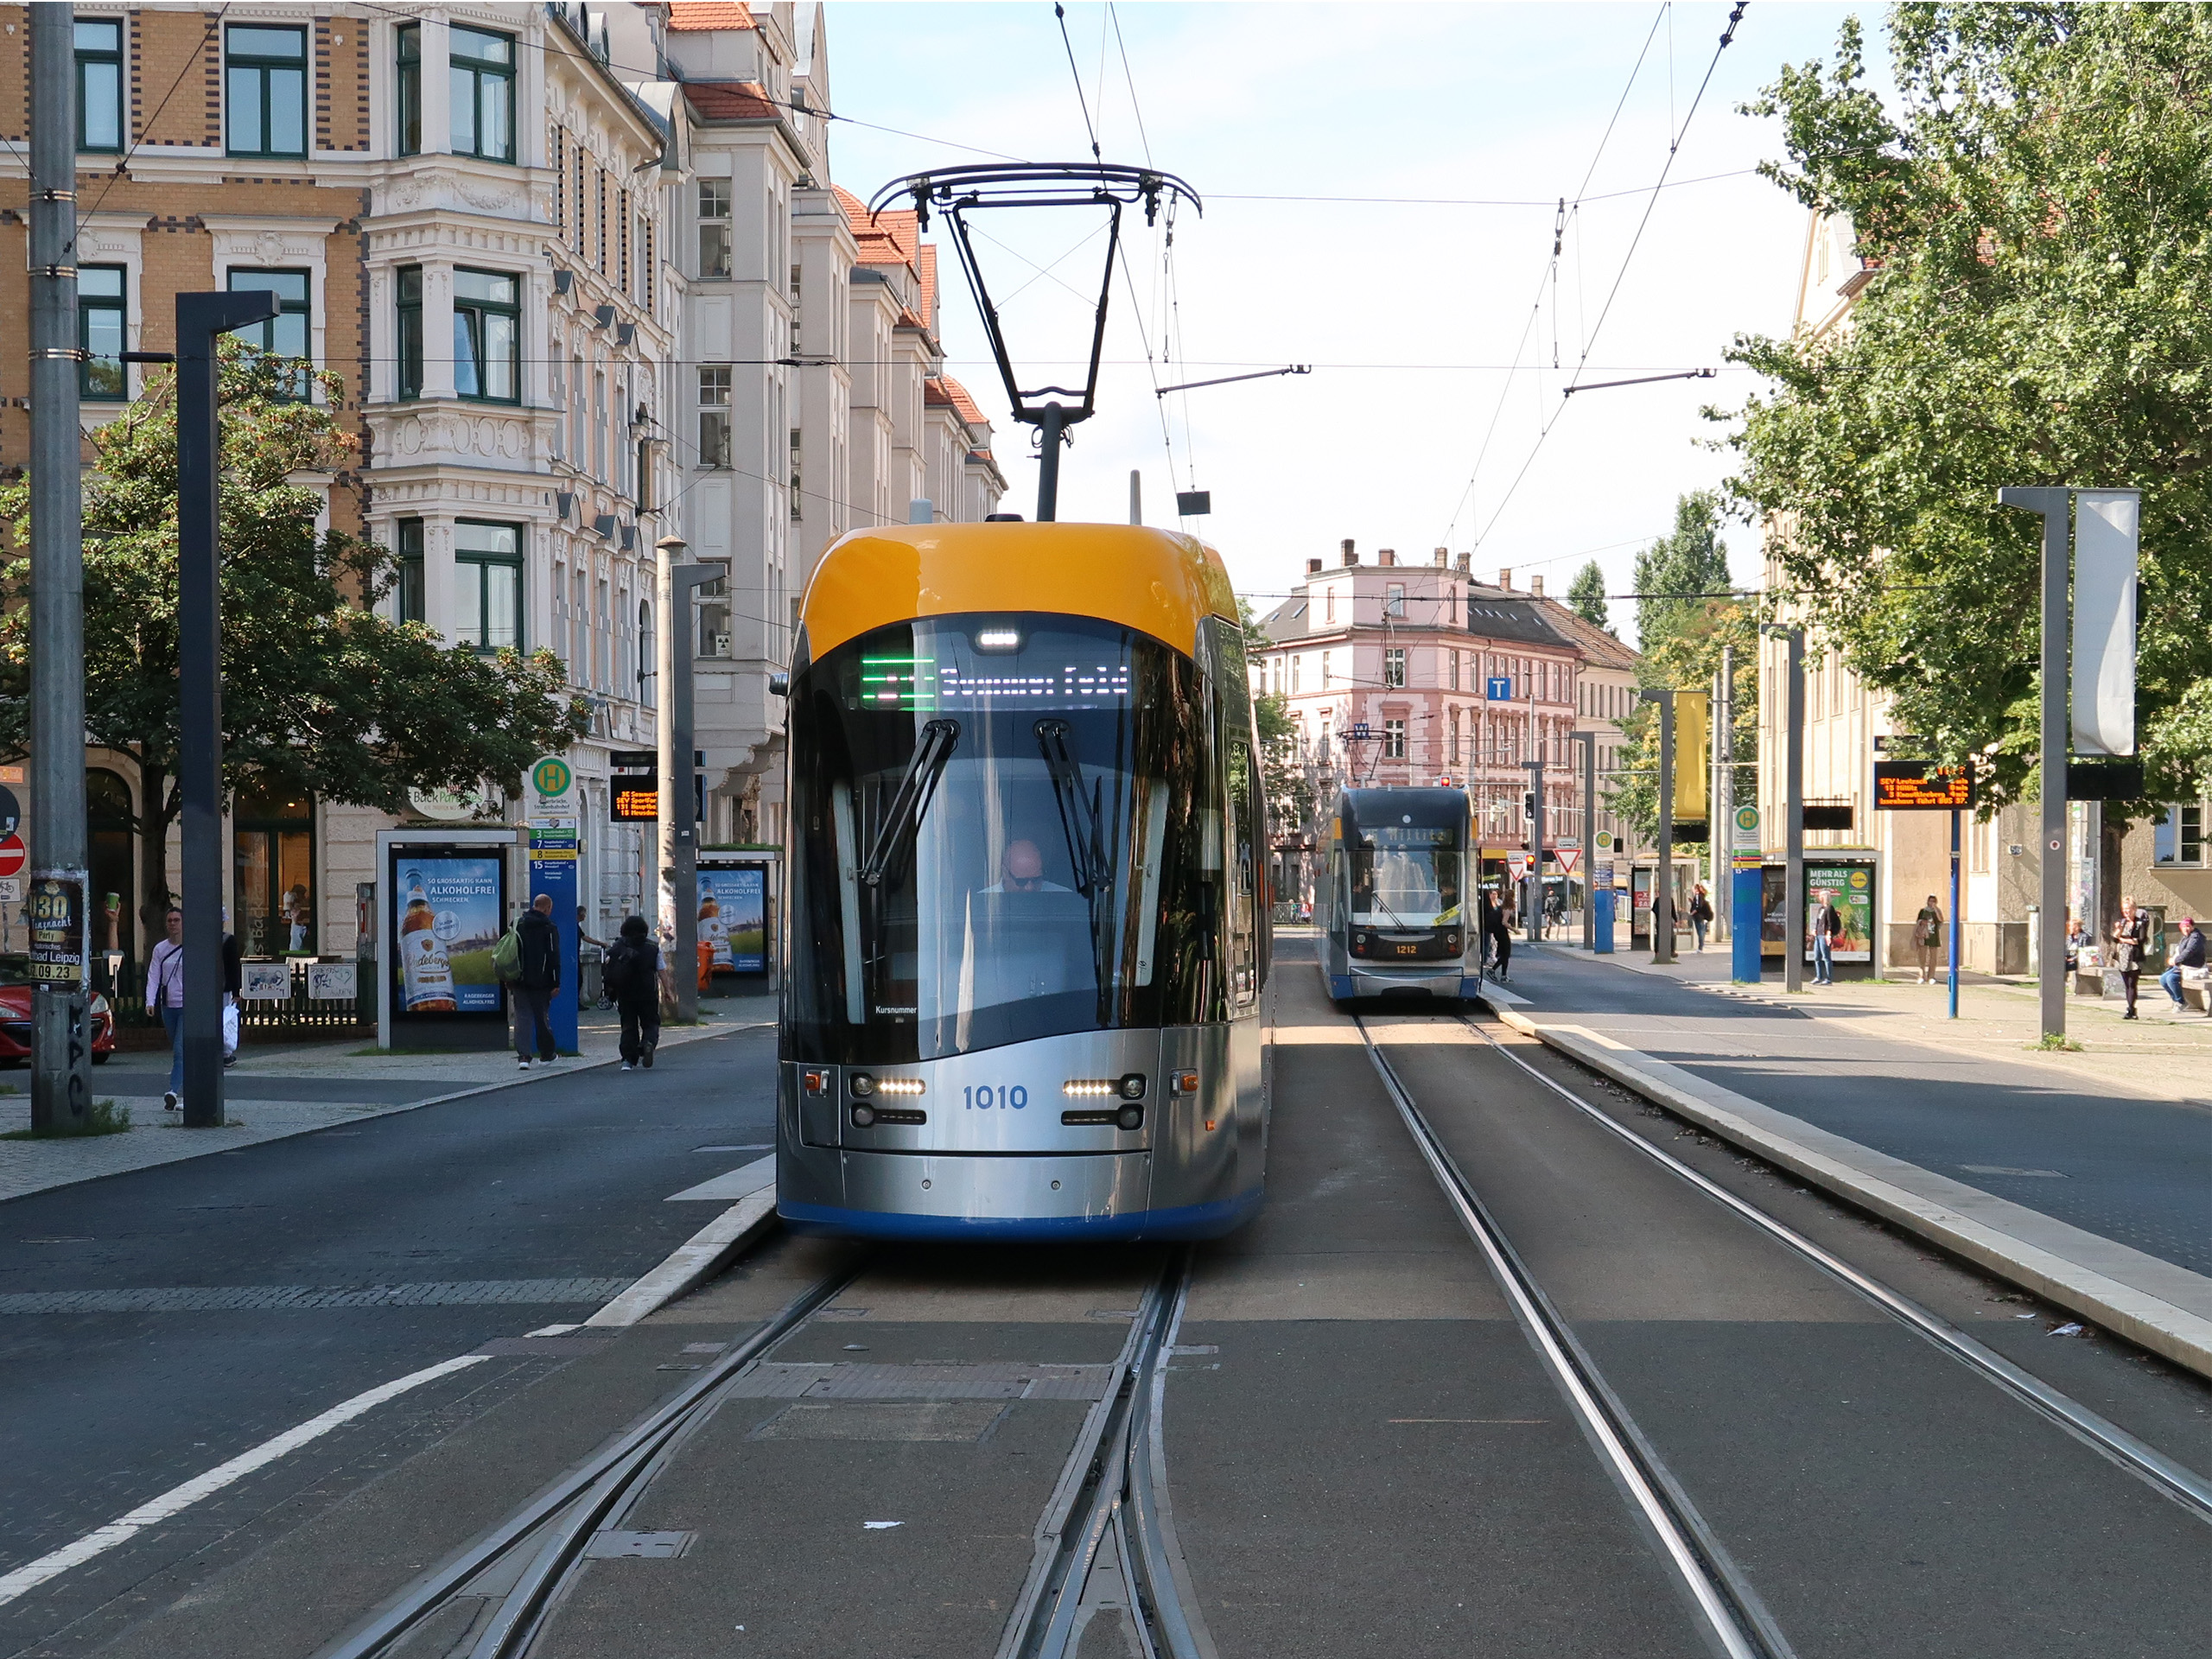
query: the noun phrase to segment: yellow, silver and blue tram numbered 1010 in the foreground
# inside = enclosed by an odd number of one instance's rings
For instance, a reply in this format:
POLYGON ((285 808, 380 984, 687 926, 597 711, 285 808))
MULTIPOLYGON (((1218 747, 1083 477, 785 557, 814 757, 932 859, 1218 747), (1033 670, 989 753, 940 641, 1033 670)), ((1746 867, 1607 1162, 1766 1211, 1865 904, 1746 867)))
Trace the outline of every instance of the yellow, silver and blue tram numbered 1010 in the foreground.
POLYGON ((1265 805, 1219 555, 858 531, 807 586, 787 695, 781 1217, 980 1241, 1250 1217, 1265 805))

